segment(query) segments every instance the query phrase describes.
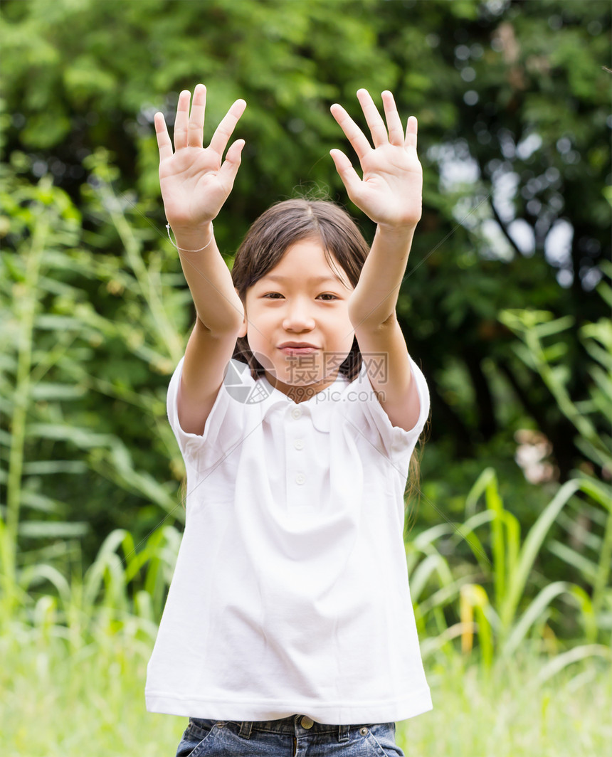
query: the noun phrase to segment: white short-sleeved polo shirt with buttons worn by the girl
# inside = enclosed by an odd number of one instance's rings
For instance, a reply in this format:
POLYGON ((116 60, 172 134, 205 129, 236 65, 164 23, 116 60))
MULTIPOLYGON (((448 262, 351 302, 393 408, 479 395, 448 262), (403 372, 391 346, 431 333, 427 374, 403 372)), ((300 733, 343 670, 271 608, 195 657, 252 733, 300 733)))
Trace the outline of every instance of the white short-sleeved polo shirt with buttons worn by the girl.
POLYGON ((232 360, 203 435, 167 409, 186 526, 147 709, 257 721, 388 722, 431 709, 404 552, 404 487, 429 414, 392 426, 365 365, 294 403, 232 360))

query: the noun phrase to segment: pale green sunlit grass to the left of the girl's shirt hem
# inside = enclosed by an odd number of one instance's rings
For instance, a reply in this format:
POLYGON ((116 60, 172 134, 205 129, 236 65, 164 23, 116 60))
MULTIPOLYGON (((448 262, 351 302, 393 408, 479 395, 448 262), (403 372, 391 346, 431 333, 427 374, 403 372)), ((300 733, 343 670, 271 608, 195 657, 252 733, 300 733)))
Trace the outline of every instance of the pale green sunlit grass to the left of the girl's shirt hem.
POLYGON ((2 639, 0 650, 4 757, 176 752, 186 719, 145 711, 150 646, 117 637, 69 653, 58 640, 30 637, 2 639))

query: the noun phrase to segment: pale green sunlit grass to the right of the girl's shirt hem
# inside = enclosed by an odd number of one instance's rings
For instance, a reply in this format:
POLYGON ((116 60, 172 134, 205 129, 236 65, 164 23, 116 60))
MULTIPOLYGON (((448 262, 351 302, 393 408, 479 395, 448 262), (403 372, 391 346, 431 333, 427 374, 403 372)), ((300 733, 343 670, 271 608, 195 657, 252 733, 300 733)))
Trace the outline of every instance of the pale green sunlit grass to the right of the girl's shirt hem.
POLYGON ((545 684, 524 656, 487 673, 461 656, 429 673, 434 709, 398 726, 407 757, 603 757, 612 743, 612 676, 593 660, 545 684))

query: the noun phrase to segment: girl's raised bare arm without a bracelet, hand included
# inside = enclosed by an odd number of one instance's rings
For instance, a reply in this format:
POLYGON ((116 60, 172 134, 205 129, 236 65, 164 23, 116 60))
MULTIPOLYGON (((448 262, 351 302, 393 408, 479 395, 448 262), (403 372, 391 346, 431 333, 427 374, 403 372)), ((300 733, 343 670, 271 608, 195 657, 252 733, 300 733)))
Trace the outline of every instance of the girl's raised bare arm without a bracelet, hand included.
POLYGON ((410 117, 404 132, 391 92, 383 92, 386 124, 365 89, 359 90, 358 99, 373 146, 341 105, 331 108, 358 156, 363 179, 340 150, 331 151, 336 170, 351 201, 377 224, 370 254, 351 294, 349 315, 361 354, 386 353, 385 375, 373 369, 370 382, 393 425, 409 430, 417 422, 420 403, 395 306, 421 216, 417 119, 410 117))

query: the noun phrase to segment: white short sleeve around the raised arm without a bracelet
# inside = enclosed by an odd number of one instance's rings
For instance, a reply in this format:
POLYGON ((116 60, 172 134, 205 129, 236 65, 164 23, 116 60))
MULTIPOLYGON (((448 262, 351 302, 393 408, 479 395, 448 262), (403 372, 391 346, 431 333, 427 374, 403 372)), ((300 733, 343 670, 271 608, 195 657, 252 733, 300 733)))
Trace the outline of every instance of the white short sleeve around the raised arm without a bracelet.
POLYGON ((417 366, 417 363, 410 359, 412 375, 417 385, 417 394, 419 395, 420 412, 417 422, 413 428, 406 431, 404 428, 395 426, 389 419, 389 416, 383 410, 383 406, 376 397, 370 378, 367 375, 365 364, 361 366, 358 378, 354 385, 359 392, 360 400, 357 406, 361 408, 366 416, 367 430, 373 438, 370 441, 378 446, 383 444, 386 454, 390 459, 409 460, 417 444, 417 441, 425 428, 427 418, 429 417, 429 388, 423 372, 417 366))

